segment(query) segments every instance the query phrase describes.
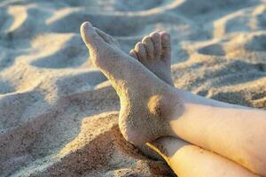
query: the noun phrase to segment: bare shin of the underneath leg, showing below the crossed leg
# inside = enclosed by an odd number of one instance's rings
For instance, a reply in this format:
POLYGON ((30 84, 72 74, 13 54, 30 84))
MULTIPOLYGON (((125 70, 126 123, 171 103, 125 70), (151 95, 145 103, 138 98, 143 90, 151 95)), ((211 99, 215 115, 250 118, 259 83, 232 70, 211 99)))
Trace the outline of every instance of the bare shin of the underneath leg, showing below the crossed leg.
POLYGON ((259 176, 227 158, 173 137, 162 137, 149 146, 167 161, 178 177, 259 176))

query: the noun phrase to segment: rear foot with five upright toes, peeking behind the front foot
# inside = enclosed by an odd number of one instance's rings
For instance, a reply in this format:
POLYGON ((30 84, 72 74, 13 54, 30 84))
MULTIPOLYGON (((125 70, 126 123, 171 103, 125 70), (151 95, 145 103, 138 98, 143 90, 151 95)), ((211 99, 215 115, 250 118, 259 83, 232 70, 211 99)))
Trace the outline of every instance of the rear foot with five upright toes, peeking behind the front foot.
POLYGON ((171 77, 171 41, 168 33, 153 32, 145 36, 142 42, 137 42, 135 49, 130 50, 129 55, 145 65, 162 81, 174 86, 171 77))

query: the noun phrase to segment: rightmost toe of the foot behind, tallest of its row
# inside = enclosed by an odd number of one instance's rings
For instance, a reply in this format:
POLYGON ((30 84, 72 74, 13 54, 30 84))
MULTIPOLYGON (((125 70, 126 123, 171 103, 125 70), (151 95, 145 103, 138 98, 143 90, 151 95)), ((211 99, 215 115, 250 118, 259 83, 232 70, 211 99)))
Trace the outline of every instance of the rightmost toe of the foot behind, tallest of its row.
POLYGON ((166 32, 160 32, 161 39, 161 58, 169 60, 171 58, 171 39, 170 35, 166 32))

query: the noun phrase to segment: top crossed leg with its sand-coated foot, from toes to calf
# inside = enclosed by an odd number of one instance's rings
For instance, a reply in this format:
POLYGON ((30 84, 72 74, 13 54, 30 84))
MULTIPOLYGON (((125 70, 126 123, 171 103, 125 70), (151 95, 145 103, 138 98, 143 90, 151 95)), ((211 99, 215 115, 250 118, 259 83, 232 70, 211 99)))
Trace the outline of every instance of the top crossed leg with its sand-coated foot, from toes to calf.
POLYGON ((126 140, 141 145, 161 136, 180 137, 266 174, 265 112, 174 89, 90 23, 83 23, 81 32, 92 62, 120 96, 119 125, 126 140))

